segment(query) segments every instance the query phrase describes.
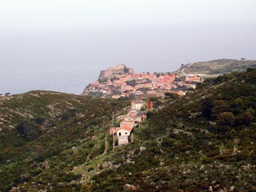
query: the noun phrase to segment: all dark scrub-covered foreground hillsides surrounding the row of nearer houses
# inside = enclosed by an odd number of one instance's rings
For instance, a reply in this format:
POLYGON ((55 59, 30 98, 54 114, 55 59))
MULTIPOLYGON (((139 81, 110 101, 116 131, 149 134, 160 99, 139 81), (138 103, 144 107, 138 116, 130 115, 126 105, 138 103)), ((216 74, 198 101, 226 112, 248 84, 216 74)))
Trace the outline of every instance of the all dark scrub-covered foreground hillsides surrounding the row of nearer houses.
POLYGON ((161 107, 134 128, 134 142, 106 155, 111 113, 124 113, 129 100, 41 91, 1 98, 9 122, 0 191, 255 191, 255 84, 250 69, 207 79, 182 98, 154 98, 161 107), (27 119, 52 123, 39 134, 17 132, 27 119))

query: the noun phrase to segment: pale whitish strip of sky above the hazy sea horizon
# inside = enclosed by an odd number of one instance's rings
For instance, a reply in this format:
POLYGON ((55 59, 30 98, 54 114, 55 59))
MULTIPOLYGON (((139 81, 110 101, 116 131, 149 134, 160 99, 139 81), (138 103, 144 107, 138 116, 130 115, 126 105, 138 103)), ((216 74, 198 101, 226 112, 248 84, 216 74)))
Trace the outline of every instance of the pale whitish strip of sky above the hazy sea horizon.
POLYGON ((8 0, 0 29, 94 29, 194 23, 255 23, 254 0, 8 0))

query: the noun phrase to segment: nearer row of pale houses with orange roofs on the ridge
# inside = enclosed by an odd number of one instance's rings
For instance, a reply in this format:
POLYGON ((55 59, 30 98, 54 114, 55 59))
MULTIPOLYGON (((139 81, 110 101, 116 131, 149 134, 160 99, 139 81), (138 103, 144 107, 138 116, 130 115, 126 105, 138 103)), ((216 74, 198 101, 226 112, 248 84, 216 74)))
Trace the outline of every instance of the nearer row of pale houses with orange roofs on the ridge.
POLYGON ((142 100, 134 100, 131 102, 131 110, 127 114, 117 117, 120 126, 111 127, 110 135, 118 138, 118 146, 133 141, 132 130, 146 120, 145 108, 152 110, 152 107, 152 102, 150 101, 146 105, 142 100))

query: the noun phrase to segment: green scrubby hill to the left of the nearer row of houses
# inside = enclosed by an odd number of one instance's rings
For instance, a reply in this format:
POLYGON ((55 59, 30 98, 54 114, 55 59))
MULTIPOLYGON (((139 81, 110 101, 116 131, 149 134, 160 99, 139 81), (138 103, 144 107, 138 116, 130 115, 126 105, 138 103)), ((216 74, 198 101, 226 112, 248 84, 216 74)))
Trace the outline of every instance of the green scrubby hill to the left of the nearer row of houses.
POLYGON ((0 106, 0 191, 9 191, 38 175, 42 183, 78 177, 66 174, 102 153, 112 111, 126 102, 31 91, 2 97, 0 106))

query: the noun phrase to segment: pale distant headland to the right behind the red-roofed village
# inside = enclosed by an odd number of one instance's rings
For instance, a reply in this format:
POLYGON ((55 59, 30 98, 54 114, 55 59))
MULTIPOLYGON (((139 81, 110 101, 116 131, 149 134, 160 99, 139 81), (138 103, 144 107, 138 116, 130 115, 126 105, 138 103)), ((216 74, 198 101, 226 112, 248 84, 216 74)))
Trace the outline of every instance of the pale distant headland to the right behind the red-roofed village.
POLYGON ((175 73, 181 75, 196 73, 206 76, 218 76, 220 74, 230 74, 234 71, 246 71, 250 67, 256 67, 256 61, 223 58, 209 62, 193 62, 182 65, 175 73))

